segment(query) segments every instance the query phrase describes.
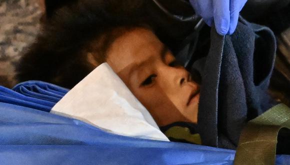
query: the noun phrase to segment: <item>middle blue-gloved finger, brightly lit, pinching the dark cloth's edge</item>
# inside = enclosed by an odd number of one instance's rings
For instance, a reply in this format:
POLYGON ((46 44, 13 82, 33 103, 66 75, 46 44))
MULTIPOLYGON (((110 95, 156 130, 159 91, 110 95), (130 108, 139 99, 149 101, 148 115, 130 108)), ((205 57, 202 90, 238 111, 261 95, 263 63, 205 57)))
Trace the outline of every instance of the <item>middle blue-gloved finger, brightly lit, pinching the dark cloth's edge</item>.
POLYGON ((229 0, 213 0, 212 7, 216 32, 220 35, 227 34, 230 24, 229 0))

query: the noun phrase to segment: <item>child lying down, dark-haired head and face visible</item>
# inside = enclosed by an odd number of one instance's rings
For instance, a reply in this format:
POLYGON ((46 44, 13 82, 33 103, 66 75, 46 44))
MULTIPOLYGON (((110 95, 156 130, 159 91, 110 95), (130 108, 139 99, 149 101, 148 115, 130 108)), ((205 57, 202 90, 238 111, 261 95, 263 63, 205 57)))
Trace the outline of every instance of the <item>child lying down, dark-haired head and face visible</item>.
POLYGON ((83 1, 59 9, 57 13, 68 16, 56 14, 43 25, 37 42, 19 63, 18 79, 39 79, 71 88, 107 61, 159 126, 175 121, 197 123, 198 84, 145 24, 148 21, 140 19, 143 3, 130 2, 134 9, 118 13, 109 9, 112 3, 117 2, 83 1), (80 15, 82 12, 86 14, 80 15), (142 68, 138 63, 143 63, 142 68), (137 68, 129 68, 133 65, 137 68))

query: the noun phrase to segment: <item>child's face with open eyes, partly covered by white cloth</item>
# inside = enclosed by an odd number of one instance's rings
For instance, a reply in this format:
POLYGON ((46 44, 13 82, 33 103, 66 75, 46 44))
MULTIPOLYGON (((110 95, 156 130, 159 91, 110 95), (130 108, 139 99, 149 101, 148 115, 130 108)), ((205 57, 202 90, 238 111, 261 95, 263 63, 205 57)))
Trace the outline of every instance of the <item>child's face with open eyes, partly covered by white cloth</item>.
POLYGON ((148 109, 158 126, 197 123, 199 86, 150 30, 136 28, 117 38, 107 63, 148 109))

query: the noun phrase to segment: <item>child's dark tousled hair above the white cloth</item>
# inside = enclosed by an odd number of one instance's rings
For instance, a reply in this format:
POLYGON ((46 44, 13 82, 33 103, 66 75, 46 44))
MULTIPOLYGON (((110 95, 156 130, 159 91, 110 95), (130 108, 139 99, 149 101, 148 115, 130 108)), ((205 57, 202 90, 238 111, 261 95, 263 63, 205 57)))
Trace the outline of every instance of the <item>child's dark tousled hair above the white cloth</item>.
POLYGON ((16 79, 73 87, 95 65, 115 38, 135 27, 149 27, 143 0, 46 1, 41 32, 16 66, 16 79), (88 55, 89 54, 89 55, 88 55))

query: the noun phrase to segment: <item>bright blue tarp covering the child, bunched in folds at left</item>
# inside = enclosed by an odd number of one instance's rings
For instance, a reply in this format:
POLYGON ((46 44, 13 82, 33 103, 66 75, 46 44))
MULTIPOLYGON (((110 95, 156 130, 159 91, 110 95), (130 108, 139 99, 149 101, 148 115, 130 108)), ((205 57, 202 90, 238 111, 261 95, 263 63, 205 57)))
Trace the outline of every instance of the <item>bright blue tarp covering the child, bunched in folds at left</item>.
POLYGON ((67 91, 41 81, 0 87, 0 164, 233 163, 234 150, 121 136, 49 113, 67 91))

